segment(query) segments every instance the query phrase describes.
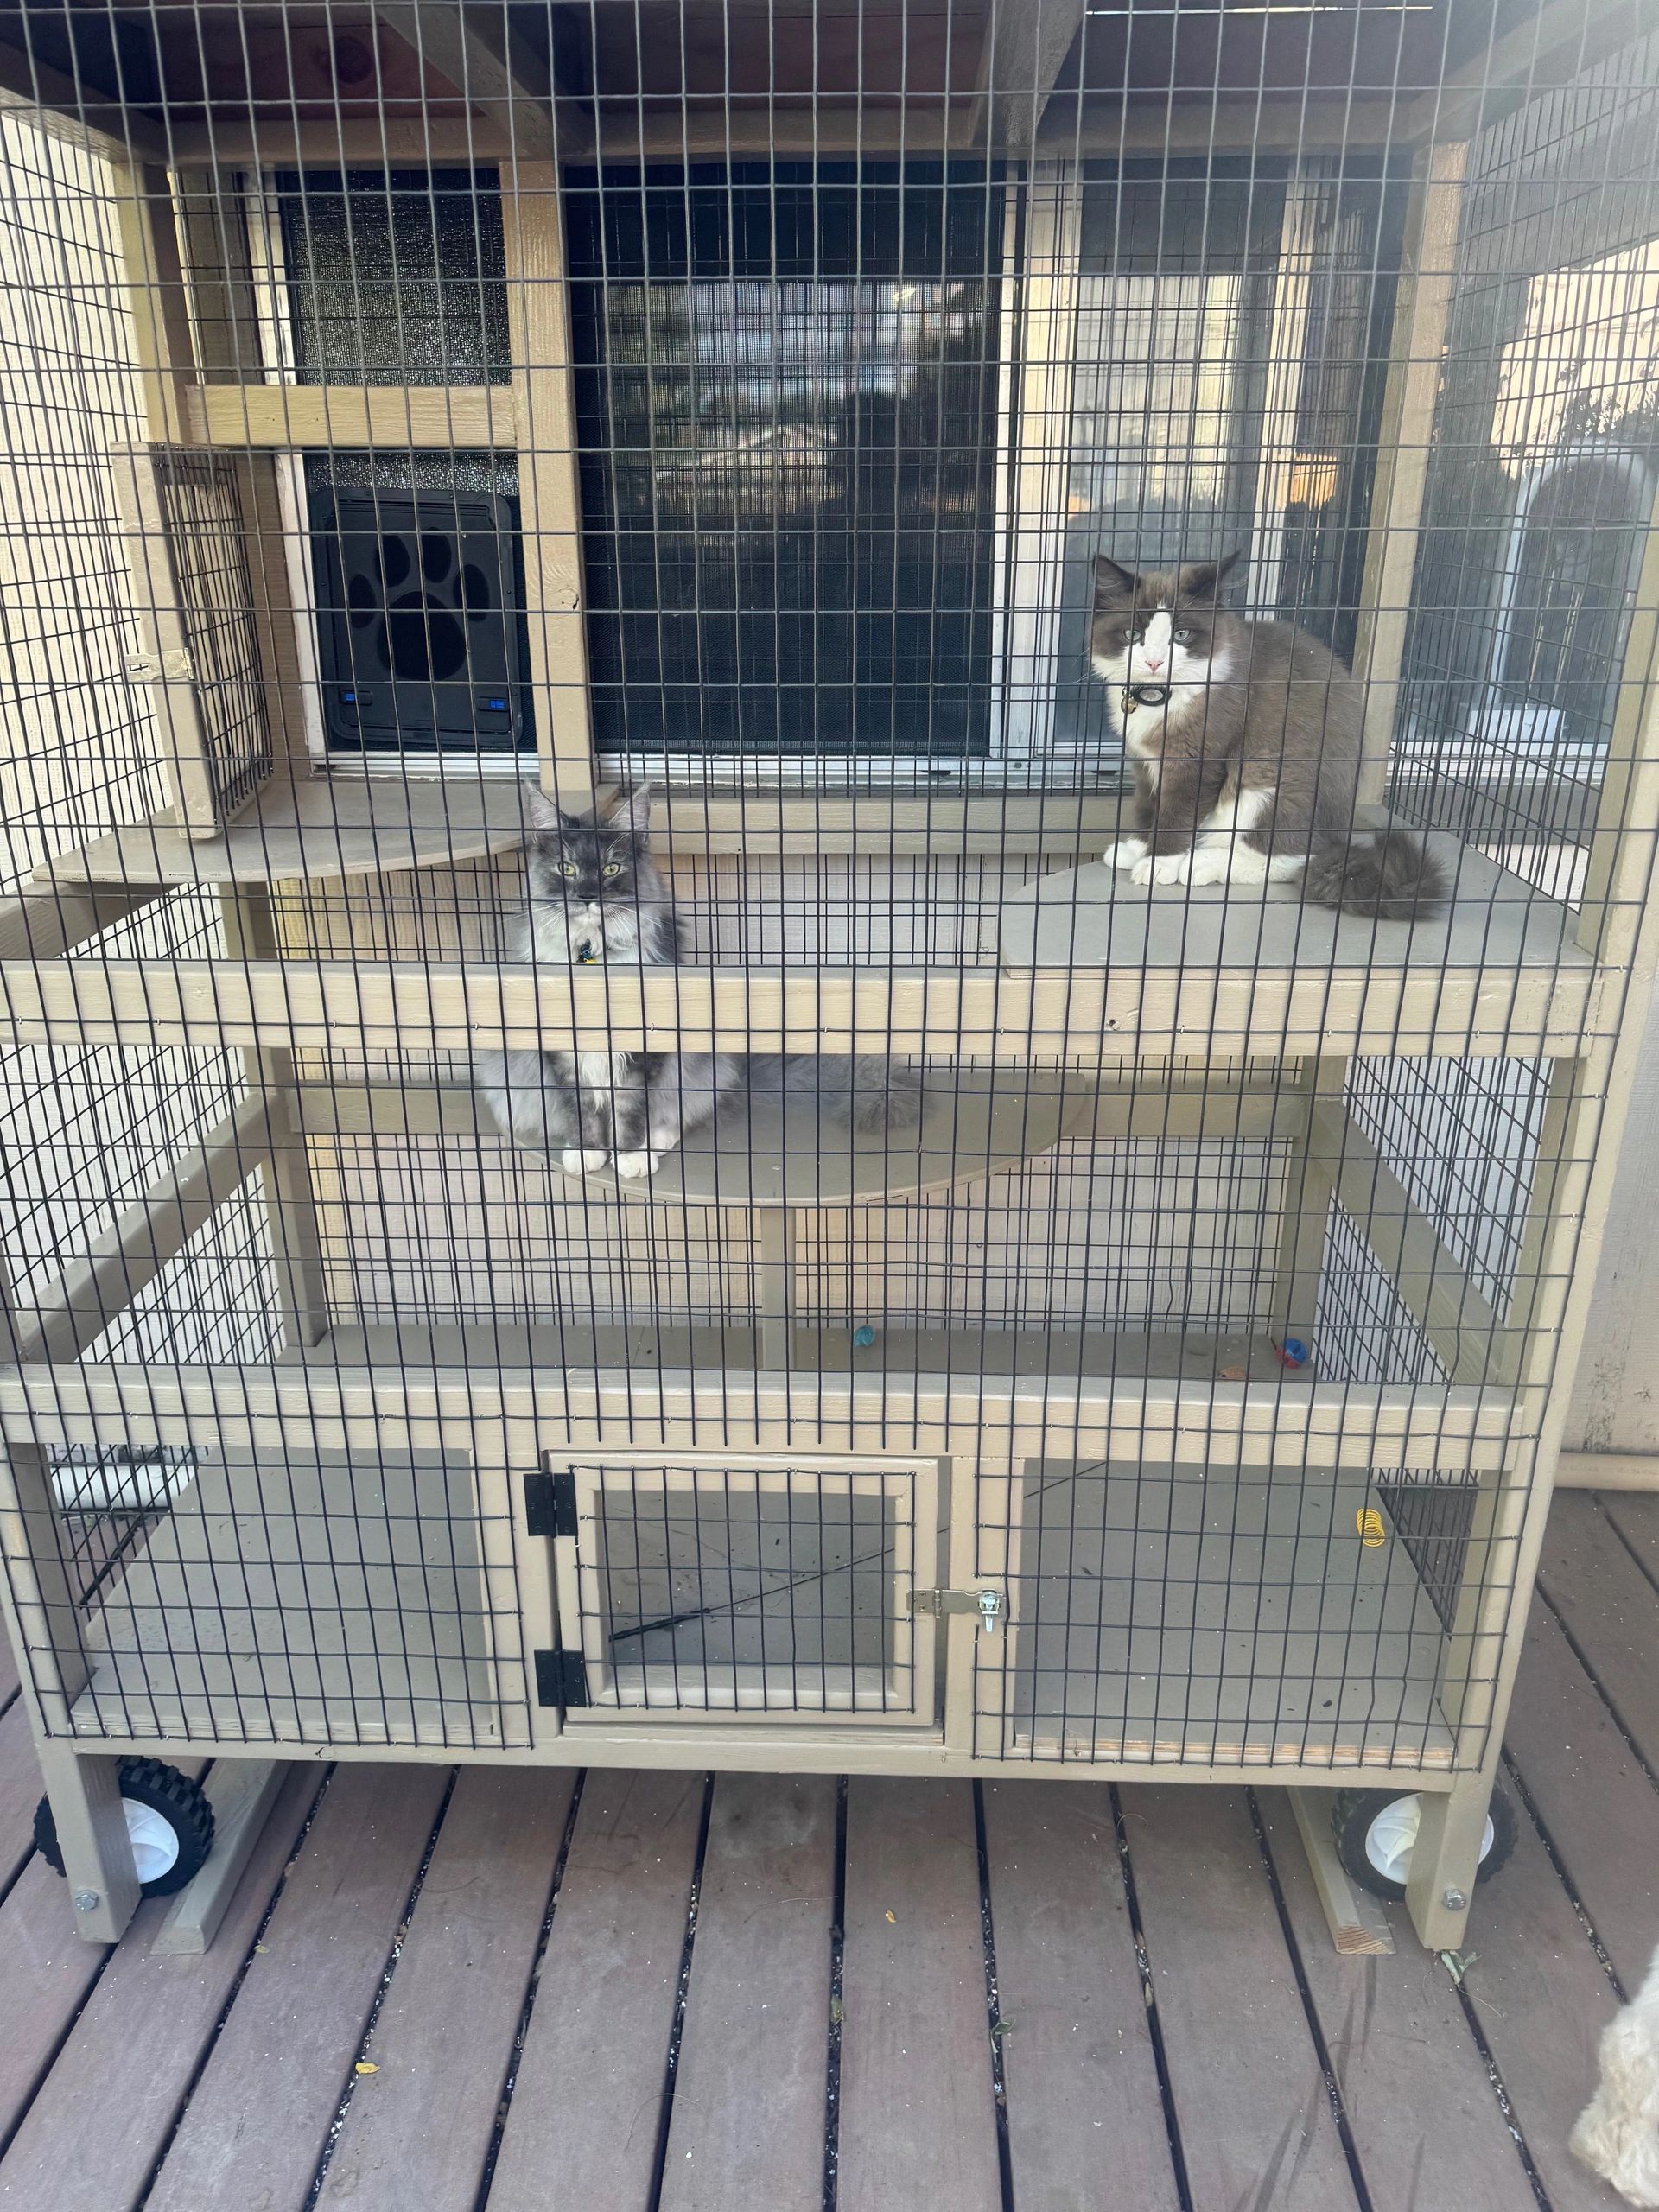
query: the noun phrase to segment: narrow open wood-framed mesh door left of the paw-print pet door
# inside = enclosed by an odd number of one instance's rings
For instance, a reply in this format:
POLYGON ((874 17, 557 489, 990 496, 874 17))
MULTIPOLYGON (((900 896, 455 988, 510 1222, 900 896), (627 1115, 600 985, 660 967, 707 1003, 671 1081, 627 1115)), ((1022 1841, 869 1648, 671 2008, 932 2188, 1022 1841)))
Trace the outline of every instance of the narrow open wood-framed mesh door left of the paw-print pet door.
POLYGON ((215 836, 270 774, 254 586, 237 456, 184 445, 111 453, 139 653, 179 825, 215 836))

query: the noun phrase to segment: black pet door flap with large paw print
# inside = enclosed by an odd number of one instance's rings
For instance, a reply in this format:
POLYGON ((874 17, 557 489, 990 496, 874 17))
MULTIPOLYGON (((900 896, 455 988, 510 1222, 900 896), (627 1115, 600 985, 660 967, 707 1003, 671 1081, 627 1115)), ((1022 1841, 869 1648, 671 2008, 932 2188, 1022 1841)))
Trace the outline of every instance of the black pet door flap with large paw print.
POLYGON ((529 737, 518 502, 319 491, 310 502, 330 750, 513 752, 529 737))

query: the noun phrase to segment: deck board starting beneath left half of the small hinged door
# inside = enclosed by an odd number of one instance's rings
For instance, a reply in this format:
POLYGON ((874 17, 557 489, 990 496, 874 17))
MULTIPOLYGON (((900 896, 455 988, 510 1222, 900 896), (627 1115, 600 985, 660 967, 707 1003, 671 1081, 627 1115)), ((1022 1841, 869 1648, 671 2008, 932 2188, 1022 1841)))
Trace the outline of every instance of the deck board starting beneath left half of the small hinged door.
POLYGON ((703 1794, 701 1774, 588 1774, 489 2212, 650 2201, 703 1794))

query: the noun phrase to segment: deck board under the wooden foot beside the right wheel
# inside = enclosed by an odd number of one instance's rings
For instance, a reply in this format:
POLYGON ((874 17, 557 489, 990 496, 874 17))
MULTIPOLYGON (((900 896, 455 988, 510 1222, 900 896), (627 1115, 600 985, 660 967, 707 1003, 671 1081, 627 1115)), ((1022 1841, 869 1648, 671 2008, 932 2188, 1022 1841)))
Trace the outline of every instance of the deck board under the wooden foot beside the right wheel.
POLYGON ((1398 1905, 1385 1907, 1394 1958, 1340 1958, 1290 1798, 1263 1790, 1259 1803, 1371 2212, 1537 2212, 1447 1969, 1398 1905))

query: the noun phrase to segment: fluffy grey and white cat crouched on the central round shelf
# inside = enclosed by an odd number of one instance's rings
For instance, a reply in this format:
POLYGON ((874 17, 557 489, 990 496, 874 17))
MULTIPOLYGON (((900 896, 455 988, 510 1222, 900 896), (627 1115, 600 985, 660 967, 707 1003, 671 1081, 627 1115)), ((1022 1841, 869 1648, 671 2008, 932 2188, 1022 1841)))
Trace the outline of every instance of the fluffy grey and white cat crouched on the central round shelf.
MULTIPOLYGON (((679 929, 650 860, 650 792, 624 792, 591 821, 526 794, 529 909, 515 960, 626 960, 675 967, 679 929)), ((920 1084, 878 1055, 801 1053, 482 1053, 478 1093, 498 1128, 551 1152, 566 1175, 615 1161, 622 1177, 655 1175, 681 1137, 714 1117, 723 1095, 816 1095, 860 1133, 920 1117, 920 1084)))

